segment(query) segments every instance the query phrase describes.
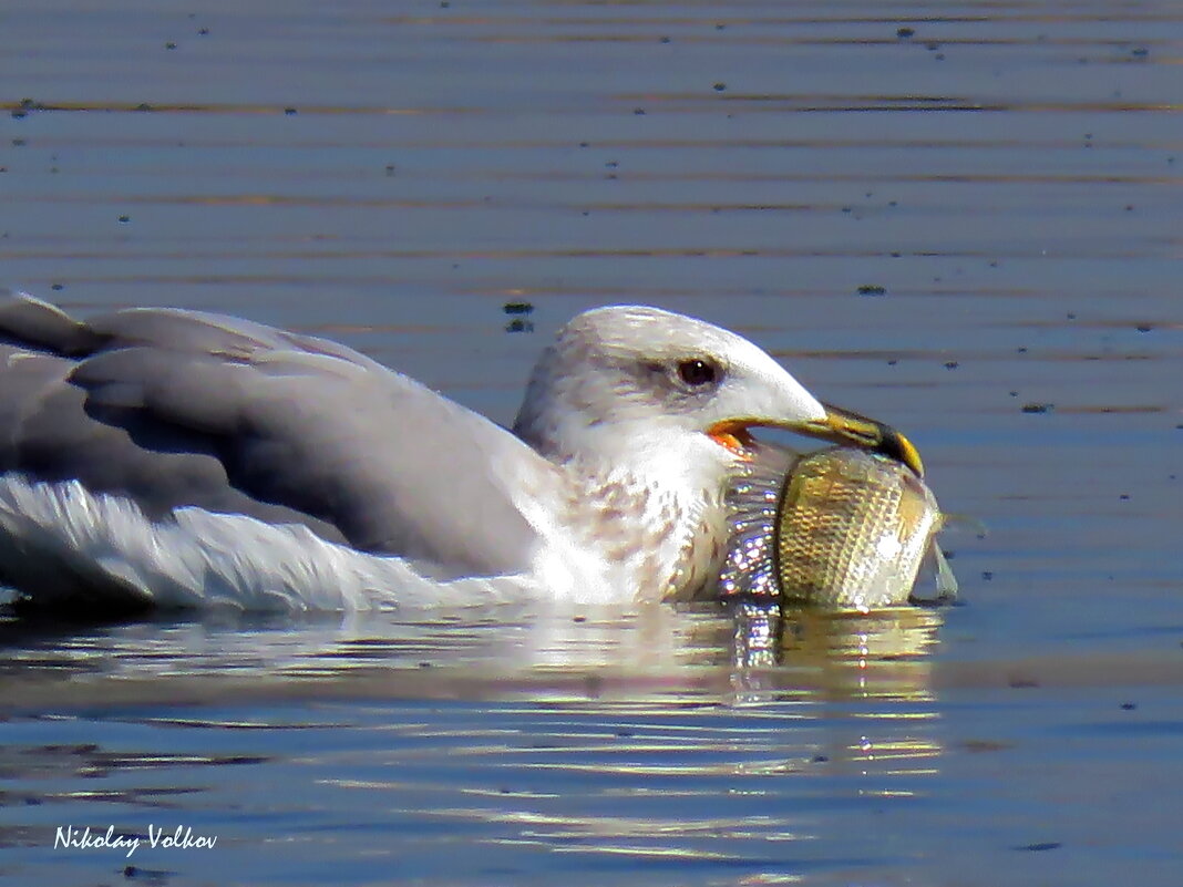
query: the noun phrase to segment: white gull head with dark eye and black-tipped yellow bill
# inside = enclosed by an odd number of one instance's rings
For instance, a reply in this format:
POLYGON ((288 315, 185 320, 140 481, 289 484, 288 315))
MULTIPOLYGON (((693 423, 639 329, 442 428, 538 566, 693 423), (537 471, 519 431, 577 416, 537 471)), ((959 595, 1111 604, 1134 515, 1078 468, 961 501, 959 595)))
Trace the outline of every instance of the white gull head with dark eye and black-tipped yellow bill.
POLYGON ((754 427, 919 457, 890 427, 816 400, 742 336, 642 306, 595 309, 560 330, 513 430, 557 462, 609 461, 710 484, 746 458, 754 427))

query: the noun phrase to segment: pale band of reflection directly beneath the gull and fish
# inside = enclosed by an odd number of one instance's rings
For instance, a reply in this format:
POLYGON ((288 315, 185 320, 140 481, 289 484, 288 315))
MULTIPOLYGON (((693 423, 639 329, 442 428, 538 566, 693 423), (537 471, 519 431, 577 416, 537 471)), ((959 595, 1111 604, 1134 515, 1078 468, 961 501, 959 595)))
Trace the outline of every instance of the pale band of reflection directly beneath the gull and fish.
POLYGON ((154 687, 167 681, 175 694, 200 678, 221 679, 222 698, 240 679, 256 692, 298 684, 300 692, 349 694, 381 685, 414 694, 455 681, 497 695, 548 682, 578 693, 590 676, 629 693, 678 692, 726 686, 733 674, 745 675, 749 693, 764 681, 770 692, 922 698, 922 666, 939 626, 936 609, 830 614, 745 602, 632 611, 503 604, 411 619, 206 614, 89 628, 9 619, 0 622, 0 698, 20 705, 49 693, 73 704, 103 682, 128 701, 175 700, 154 687))

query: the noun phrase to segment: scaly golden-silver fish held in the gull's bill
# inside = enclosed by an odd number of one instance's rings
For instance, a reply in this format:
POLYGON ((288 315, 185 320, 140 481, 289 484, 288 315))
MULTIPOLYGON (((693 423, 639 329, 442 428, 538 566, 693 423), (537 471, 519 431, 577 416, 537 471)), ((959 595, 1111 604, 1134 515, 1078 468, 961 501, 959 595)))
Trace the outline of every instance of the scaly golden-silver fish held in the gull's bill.
POLYGON ((733 480, 728 505, 723 597, 870 613, 910 603, 926 559, 938 600, 956 597, 935 539, 944 516, 900 461, 853 447, 763 447, 733 480))

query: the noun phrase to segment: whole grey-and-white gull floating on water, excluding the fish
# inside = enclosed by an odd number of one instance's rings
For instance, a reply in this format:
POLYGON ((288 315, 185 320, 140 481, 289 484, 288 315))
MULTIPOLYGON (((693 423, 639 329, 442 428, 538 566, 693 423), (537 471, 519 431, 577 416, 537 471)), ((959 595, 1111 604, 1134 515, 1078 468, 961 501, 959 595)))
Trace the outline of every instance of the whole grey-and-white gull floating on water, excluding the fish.
POLYGON ((512 428, 342 344, 215 313, 0 294, 0 585, 51 614, 693 600, 756 427, 880 452, 745 338, 576 316, 512 428))

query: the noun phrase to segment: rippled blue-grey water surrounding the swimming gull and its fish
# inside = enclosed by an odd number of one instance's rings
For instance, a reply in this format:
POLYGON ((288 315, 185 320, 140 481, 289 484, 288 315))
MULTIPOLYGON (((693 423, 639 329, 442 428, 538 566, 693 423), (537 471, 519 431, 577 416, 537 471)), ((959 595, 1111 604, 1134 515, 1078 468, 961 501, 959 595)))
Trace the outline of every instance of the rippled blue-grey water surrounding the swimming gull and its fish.
POLYGON ((0 21, 4 283, 330 335, 499 421, 575 311, 697 313, 967 517, 964 606, 871 620, 2 623, 0 880, 1178 883, 1177 4, 0 21))

